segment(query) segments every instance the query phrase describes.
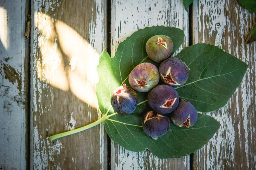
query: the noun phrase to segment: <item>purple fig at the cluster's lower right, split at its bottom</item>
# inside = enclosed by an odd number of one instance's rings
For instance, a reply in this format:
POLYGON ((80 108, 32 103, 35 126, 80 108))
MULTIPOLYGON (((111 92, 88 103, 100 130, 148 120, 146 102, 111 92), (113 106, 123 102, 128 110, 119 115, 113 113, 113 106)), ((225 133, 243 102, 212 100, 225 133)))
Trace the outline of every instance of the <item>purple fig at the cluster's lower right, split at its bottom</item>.
POLYGON ((172 122, 179 127, 192 127, 198 118, 195 107, 185 99, 180 99, 178 107, 172 113, 172 122))

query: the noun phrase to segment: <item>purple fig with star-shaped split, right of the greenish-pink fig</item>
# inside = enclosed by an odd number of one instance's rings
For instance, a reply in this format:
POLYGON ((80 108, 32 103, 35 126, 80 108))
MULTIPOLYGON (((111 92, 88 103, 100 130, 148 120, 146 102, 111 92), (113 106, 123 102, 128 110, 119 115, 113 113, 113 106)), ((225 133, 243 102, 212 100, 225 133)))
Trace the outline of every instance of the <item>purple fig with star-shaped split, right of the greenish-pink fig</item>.
POLYGON ((159 67, 160 77, 171 86, 184 85, 189 78, 189 68, 179 58, 171 57, 164 60, 159 67))

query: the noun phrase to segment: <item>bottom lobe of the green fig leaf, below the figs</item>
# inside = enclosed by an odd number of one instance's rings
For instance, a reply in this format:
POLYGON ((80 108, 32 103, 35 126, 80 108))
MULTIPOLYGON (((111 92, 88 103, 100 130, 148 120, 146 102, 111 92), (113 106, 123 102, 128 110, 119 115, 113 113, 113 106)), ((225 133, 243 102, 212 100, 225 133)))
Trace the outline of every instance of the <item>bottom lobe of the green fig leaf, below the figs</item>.
POLYGON ((198 114, 198 121, 190 128, 171 123, 166 135, 157 140, 147 136, 141 126, 140 113, 115 115, 104 121, 111 139, 127 150, 148 149, 159 158, 180 158, 200 149, 216 133, 219 123, 210 116, 198 114))

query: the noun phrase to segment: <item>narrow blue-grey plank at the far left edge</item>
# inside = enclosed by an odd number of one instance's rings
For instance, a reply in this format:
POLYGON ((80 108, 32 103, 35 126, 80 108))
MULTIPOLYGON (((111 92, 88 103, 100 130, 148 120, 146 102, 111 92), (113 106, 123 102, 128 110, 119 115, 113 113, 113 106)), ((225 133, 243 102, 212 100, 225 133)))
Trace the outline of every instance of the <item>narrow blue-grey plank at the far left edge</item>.
POLYGON ((0 169, 26 169, 26 0, 0 1, 0 169))

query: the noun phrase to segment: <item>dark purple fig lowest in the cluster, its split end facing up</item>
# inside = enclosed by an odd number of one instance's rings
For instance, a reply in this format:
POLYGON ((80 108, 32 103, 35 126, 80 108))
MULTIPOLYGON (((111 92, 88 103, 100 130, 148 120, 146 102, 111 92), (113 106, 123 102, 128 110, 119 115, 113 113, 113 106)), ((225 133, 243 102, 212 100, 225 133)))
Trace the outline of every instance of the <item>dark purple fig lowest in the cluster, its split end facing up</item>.
POLYGON ((165 115, 158 114, 154 111, 148 111, 142 119, 142 127, 148 136, 157 139, 168 132, 170 128, 170 119, 165 115))

